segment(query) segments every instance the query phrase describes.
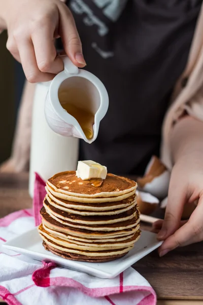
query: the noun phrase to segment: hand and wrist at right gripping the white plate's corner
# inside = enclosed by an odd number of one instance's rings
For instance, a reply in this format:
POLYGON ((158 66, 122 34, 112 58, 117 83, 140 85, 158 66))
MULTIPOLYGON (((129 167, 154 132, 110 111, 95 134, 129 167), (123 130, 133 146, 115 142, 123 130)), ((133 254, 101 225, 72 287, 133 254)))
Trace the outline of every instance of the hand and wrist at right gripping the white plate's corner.
MULTIPOLYGON (((164 240, 159 249, 162 256, 178 246, 203 239, 203 123, 185 116, 171 133, 174 161, 165 218, 158 238, 164 240), (186 202, 198 200, 190 219, 181 223, 186 202)), ((160 222, 154 226, 160 226, 160 222)))

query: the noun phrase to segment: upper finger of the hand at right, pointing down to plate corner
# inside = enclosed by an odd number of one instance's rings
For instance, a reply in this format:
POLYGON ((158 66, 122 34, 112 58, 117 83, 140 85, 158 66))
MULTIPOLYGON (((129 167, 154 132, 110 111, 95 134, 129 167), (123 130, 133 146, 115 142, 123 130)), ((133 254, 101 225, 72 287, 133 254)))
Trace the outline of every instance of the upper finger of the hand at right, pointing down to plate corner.
POLYGON ((168 202, 165 210, 164 221, 161 230, 157 235, 158 239, 166 239, 168 236, 174 234, 174 232, 179 228, 185 200, 185 188, 181 187, 177 183, 177 179, 173 180, 172 176, 168 191, 168 202))

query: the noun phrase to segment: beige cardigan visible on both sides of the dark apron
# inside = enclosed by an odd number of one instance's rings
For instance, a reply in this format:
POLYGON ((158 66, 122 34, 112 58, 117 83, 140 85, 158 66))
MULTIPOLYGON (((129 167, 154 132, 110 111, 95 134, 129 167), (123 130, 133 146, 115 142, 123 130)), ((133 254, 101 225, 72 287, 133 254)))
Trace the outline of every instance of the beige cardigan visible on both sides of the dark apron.
MULTIPOLYGON (((12 156, 0 167, 0 171, 24 171, 28 169, 31 135, 31 107, 35 85, 26 83, 18 115, 12 156)), ((161 159, 172 168, 170 133, 174 124, 187 113, 203 121, 203 4, 196 25, 188 63, 174 88, 171 106, 162 127, 161 159)))

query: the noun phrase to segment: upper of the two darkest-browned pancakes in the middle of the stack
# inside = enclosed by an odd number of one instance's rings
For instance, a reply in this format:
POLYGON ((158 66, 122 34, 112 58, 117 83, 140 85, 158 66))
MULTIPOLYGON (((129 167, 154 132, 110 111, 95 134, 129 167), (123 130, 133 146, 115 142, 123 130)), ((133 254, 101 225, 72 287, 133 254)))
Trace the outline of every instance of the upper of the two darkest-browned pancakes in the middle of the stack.
POLYGON ((103 216, 80 216, 76 214, 71 214, 60 210, 53 205, 49 204, 49 202, 45 199, 43 205, 46 211, 50 214, 53 214, 57 218, 62 220, 73 222, 76 224, 85 224, 85 225, 101 225, 101 224, 113 224, 118 223, 126 220, 130 220, 137 215, 137 209, 132 207, 130 210, 127 210, 121 214, 116 215, 103 215, 103 216))

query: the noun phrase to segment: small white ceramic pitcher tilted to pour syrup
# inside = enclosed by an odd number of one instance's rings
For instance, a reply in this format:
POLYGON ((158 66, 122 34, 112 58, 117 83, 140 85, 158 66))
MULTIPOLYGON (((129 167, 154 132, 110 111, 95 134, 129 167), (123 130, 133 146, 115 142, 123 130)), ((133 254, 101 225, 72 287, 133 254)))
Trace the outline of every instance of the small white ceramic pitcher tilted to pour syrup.
POLYGON ((54 77, 50 84, 45 103, 45 116, 49 127, 63 136, 81 138, 92 143, 97 135, 101 119, 109 106, 109 97, 104 84, 92 73, 78 69, 69 57, 62 56, 64 70, 54 77), (64 110, 59 102, 59 93, 72 92, 77 95, 74 103, 79 108, 94 114, 93 137, 87 139, 80 124, 74 116, 64 110), (80 90, 80 94, 78 94, 80 90), (85 100, 85 101, 84 101, 85 100))

